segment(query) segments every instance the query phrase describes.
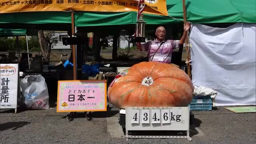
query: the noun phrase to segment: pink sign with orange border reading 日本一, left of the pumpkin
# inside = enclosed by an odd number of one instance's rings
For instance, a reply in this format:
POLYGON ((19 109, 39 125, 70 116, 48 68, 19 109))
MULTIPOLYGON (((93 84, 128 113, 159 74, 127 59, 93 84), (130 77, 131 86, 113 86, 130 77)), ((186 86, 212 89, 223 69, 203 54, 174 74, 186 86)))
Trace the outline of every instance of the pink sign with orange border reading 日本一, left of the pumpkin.
POLYGON ((106 80, 58 81, 57 112, 107 110, 106 80))

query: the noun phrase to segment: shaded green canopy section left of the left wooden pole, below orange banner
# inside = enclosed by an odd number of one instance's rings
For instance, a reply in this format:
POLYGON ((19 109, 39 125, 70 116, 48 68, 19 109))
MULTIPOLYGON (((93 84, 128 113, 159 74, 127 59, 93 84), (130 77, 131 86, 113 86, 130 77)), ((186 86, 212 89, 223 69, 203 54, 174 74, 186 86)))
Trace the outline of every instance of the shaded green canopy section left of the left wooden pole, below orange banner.
POLYGON ((0 14, 0 28, 68 30, 69 12, 15 12, 0 14))

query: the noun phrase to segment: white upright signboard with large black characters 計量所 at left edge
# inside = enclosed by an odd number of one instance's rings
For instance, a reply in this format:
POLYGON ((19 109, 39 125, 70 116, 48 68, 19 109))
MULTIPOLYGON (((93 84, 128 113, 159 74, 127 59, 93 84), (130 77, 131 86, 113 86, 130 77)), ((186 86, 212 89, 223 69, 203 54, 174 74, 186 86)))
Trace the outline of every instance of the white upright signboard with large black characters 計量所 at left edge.
POLYGON ((17 108, 18 64, 0 64, 0 108, 17 108))

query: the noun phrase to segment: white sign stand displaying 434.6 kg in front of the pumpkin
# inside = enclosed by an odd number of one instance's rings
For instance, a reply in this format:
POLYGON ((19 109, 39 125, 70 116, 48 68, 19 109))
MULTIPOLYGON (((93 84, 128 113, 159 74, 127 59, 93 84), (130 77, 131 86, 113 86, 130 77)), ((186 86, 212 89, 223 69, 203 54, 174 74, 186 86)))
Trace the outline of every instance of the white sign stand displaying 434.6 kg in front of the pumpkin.
POLYGON ((189 136, 189 107, 126 107, 126 141, 128 138, 187 138, 189 136), (186 136, 132 136, 129 131, 186 131, 186 136))

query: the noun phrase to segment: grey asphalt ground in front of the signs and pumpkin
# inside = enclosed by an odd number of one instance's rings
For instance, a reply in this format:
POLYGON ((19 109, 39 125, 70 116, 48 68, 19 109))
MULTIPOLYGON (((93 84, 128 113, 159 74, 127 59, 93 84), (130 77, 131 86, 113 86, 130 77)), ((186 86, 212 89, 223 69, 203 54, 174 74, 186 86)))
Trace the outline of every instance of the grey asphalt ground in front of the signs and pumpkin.
MULTIPOLYGON (((125 141, 118 123, 119 109, 93 112, 87 121, 83 112, 72 121, 68 113, 48 110, 0 110, 0 144, 255 144, 256 113, 234 113, 218 107, 192 111, 190 137, 129 138, 125 141)), ((143 132, 142 132, 143 133, 143 132)), ((154 131, 154 134, 158 134, 154 131)))

